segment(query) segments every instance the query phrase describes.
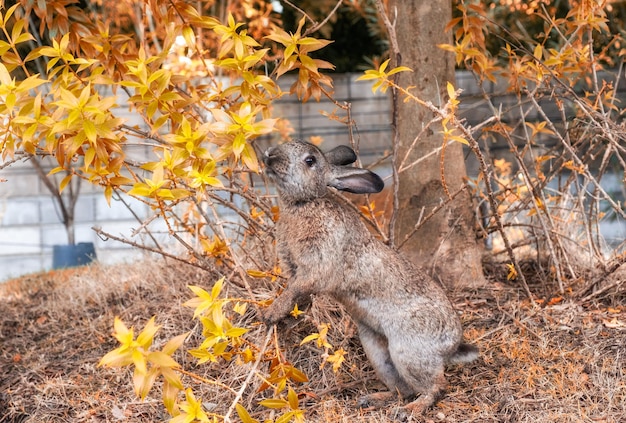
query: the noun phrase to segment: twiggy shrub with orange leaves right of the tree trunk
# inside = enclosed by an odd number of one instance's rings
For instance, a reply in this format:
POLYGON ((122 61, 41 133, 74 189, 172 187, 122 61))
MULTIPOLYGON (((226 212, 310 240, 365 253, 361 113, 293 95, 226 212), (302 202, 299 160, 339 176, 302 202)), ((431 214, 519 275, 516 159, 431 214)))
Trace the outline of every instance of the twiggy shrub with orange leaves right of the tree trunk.
POLYGON ((626 217, 624 51, 611 57, 609 46, 593 48, 610 33, 604 6, 577 2, 557 17, 547 3, 531 5, 544 25, 536 40, 500 26, 480 5, 461 6, 462 17, 449 25, 455 45, 442 46, 473 72, 475 97, 489 110, 471 127, 457 123, 479 163, 470 183, 481 230, 492 259, 508 262, 507 278, 521 279, 531 297, 567 293, 588 301, 624 292, 626 245, 619 229, 601 232, 603 223, 623 227, 626 217), (502 34, 497 58, 486 51, 490 31, 502 34), (508 153, 498 154, 499 145, 508 153), (615 237, 607 242, 606 235, 615 237), (528 261, 544 275, 540 292, 525 282, 521 264, 528 261))

